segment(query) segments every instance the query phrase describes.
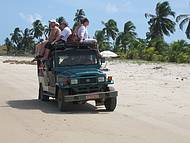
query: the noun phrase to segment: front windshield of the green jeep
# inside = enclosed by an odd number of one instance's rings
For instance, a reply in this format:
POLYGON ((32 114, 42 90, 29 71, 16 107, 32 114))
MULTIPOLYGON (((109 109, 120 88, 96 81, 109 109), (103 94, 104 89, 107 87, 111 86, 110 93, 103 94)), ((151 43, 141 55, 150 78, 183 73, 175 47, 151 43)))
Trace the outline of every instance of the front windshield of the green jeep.
POLYGON ((80 66, 80 65, 97 65, 97 53, 94 50, 67 50, 57 52, 57 66, 80 66))

